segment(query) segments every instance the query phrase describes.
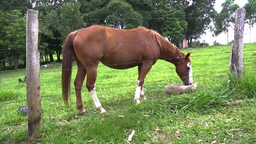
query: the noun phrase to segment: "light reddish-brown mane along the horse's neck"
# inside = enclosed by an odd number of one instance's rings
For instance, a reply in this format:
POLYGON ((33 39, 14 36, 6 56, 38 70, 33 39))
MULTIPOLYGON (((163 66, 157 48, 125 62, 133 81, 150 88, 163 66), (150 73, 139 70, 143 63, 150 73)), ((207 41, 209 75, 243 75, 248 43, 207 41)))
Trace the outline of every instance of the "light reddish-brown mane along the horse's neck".
POLYGON ((139 29, 142 29, 143 31, 146 31, 150 34, 150 36, 153 39, 156 39, 161 52, 171 52, 173 53, 173 56, 178 57, 184 57, 185 54, 181 52, 177 46, 173 45, 170 41, 166 40, 164 37, 162 37, 158 32, 147 29, 145 27, 138 27, 139 29))

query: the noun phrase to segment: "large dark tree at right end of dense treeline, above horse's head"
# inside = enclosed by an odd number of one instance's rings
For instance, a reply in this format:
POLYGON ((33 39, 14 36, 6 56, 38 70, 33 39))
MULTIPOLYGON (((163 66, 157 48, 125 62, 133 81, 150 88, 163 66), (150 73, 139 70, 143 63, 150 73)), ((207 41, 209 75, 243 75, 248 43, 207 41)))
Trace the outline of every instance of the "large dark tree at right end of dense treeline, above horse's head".
POLYGON ((214 10, 215 0, 193 0, 190 3, 182 1, 185 5, 186 21, 188 29, 185 32, 185 37, 188 39, 188 44, 191 47, 192 39, 198 39, 202 34, 205 34, 206 29, 211 28, 210 23, 216 16, 214 10))

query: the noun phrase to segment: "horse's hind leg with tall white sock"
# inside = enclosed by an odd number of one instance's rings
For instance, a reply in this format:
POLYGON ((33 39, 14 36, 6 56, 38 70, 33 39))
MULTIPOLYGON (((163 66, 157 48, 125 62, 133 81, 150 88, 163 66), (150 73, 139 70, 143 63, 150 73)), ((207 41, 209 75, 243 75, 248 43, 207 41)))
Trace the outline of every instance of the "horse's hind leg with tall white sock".
POLYGON ((96 77, 97 77, 97 68, 88 68, 86 69, 87 72, 87 80, 86 80, 86 87, 91 94, 91 98, 94 101, 96 109, 100 110, 101 113, 106 113, 107 111, 103 109, 100 100, 98 100, 96 94, 96 77))

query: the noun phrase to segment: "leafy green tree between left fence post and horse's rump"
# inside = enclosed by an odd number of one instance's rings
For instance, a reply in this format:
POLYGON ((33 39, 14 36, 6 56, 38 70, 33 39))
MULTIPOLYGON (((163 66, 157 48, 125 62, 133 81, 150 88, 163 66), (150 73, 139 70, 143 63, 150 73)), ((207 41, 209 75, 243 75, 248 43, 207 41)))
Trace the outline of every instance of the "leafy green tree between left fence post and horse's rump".
POLYGON ((54 61, 53 55, 56 53, 57 61, 60 61, 61 45, 68 33, 85 26, 83 16, 80 13, 80 4, 75 1, 39 1, 36 8, 41 10, 39 25, 39 49, 42 59, 48 62, 54 61), (40 2, 40 3, 39 3, 40 2), (55 9, 52 9, 55 8, 55 9), (42 31, 40 31, 42 29, 42 31))

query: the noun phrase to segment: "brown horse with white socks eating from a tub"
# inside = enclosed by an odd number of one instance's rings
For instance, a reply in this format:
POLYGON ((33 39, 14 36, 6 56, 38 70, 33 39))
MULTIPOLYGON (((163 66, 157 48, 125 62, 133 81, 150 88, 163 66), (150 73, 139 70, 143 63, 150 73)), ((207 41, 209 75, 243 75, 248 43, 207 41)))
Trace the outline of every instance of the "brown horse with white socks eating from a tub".
POLYGON ((85 113, 81 88, 87 74, 86 87, 94 104, 101 113, 106 113, 96 95, 97 65, 102 62, 113 69, 128 69, 138 66, 138 81, 134 100, 145 100, 143 83, 148 71, 158 59, 171 62, 184 85, 191 85, 192 68, 190 53, 183 52, 159 33, 138 27, 134 29, 115 29, 103 26, 91 26, 71 32, 63 44, 62 95, 68 104, 70 93, 73 57, 77 62, 78 72, 74 86, 77 96, 77 108, 85 113))

